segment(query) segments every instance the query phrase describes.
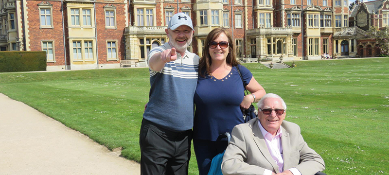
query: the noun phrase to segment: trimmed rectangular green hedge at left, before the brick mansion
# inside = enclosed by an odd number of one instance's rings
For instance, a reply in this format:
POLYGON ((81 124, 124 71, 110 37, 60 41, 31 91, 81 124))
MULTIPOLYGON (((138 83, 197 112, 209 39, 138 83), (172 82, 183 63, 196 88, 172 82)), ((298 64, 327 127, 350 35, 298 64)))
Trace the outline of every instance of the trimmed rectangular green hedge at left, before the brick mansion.
POLYGON ((46 52, 0 52, 0 72, 44 70, 46 70, 46 52))

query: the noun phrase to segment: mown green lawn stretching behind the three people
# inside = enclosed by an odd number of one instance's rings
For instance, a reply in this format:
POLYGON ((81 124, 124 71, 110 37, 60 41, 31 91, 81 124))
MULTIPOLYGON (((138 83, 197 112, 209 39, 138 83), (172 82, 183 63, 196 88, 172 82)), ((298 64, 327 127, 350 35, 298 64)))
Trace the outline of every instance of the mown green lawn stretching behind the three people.
MULTIPOLYGON (((283 97, 286 120, 301 126, 325 173, 388 174, 389 58, 295 63, 282 70, 245 66, 266 92, 283 97)), ((148 77, 148 69, 1 73, 0 92, 140 161, 148 77)), ((198 174, 193 149, 190 174, 198 174)))

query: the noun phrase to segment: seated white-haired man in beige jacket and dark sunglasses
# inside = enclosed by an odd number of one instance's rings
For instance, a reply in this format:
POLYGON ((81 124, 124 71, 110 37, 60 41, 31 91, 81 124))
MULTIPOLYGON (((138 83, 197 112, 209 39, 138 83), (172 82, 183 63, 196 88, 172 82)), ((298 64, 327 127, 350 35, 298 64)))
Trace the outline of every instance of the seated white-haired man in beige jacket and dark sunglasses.
POLYGON ((223 157, 223 175, 320 174, 324 160, 308 147, 297 124, 283 121, 283 99, 268 93, 258 107, 258 118, 233 128, 223 157))

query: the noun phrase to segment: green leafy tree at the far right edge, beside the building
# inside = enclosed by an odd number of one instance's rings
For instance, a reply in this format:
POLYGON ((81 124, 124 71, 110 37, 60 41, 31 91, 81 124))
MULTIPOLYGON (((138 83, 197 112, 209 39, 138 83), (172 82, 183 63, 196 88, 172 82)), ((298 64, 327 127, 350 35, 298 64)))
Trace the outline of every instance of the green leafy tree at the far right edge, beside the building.
POLYGON ((380 54, 389 55, 389 27, 379 29, 377 26, 371 26, 365 36, 375 39, 381 50, 380 54))

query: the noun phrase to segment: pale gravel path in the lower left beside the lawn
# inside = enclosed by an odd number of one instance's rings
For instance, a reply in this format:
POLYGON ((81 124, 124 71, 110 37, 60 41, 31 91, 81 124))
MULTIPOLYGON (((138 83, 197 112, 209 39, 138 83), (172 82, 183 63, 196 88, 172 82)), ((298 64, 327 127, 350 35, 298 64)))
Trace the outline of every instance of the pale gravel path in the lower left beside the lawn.
POLYGON ((0 93, 0 175, 140 175, 118 155, 0 93))

